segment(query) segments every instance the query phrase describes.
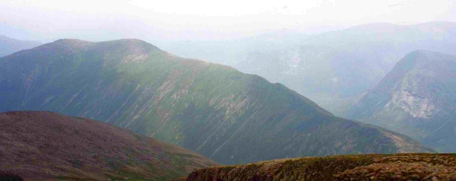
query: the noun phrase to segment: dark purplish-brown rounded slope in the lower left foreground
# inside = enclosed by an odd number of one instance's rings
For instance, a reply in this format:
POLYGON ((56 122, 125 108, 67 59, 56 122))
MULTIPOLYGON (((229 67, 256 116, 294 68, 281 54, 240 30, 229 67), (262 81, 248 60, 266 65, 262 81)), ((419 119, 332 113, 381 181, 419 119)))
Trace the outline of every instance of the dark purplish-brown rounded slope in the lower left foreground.
POLYGON ((162 180, 218 165, 182 147, 53 112, 0 113, 0 125, 0 170, 25 179, 162 180))

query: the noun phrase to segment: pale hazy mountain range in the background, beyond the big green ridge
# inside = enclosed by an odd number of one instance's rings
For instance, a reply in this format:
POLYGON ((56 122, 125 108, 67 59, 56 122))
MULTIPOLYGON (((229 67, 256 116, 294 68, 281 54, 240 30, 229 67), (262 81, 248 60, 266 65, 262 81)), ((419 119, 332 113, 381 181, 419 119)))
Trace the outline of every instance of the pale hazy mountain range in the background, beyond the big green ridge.
POLYGON ((244 41, 205 43, 176 44, 169 50, 178 55, 193 52, 198 54, 193 57, 282 83, 330 112, 344 115, 408 52, 456 52, 456 23, 373 23, 311 36, 279 32, 244 41))

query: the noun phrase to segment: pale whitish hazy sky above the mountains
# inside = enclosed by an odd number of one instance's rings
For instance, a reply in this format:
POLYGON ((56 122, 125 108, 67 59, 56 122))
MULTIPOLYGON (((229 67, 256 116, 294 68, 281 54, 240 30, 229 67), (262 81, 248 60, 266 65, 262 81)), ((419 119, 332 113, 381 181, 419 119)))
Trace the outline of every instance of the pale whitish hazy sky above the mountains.
POLYGON ((220 40, 278 29, 318 33, 428 21, 456 22, 456 0, 0 0, 0 34, 32 40, 220 40))

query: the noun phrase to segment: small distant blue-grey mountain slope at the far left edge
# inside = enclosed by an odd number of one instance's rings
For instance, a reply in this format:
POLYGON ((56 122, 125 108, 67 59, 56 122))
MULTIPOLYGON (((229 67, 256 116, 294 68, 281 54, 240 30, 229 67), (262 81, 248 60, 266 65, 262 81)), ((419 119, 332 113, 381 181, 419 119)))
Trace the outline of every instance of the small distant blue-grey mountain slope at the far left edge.
POLYGON ((39 45, 40 42, 16 40, 0 35, 0 57, 39 45))

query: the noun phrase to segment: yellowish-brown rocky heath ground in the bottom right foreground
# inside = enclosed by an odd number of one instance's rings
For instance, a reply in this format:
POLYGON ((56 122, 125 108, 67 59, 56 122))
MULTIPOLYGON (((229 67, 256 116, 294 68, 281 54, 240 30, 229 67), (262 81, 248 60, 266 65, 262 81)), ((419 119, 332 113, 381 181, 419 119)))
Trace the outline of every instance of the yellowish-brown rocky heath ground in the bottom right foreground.
POLYGON ((281 159, 204 168, 186 180, 456 180, 456 154, 281 159))

